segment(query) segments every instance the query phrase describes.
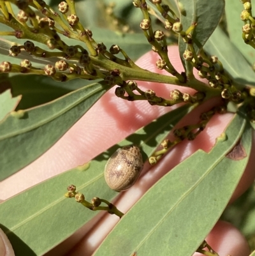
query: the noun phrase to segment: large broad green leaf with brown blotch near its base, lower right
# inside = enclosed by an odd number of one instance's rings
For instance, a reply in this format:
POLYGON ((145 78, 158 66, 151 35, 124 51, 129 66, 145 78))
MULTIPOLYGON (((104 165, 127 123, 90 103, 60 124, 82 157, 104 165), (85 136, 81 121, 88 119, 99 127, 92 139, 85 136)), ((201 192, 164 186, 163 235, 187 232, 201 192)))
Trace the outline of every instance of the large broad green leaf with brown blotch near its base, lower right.
POLYGON ((244 172, 251 151, 251 128, 245 123, 244 113, 238 112, 210 153, 198 150, 154 184, 94 255, 193 255, 244 172), (247 156, 238 161, 227 158, 243 132, 247 156))

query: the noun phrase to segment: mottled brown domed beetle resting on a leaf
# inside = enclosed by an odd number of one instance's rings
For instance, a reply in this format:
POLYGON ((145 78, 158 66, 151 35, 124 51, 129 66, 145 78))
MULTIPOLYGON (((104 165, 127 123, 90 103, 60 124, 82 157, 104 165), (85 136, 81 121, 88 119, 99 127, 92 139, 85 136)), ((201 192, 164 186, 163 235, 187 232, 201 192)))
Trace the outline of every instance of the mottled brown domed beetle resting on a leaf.
POLYGON ((117 149, 105 165, 105 181, 112 190, 128 190, 143 169, 143 158, 136 146, 117 149))

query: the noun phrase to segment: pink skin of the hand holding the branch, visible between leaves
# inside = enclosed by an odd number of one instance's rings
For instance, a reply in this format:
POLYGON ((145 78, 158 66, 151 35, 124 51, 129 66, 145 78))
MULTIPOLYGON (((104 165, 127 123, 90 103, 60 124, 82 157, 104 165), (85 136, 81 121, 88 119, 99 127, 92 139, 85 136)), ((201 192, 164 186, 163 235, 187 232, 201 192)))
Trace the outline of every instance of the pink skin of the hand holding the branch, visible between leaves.
MULTIPOLYGON (((178 72, 182 72, 182 64, 179 59, 177 47, 170 47, 169 55, 171 63, 178 72)), ((155 62, 158 57, 154 52, 149 52, 141 57, 136 63, 138 66, 157 73, 155 62)), ((157 96, 169 98, 173 89, 193 93, 193 89, 185 87, 139 82, 143 89, 153 89, 157 96)), ((43 154, 31 165, 9 177, 1 183, 0 198, 7 199, 22 190, 37 184, 48 177, 71 169, 77 165, 88 162, 108 147, 124 139, 135 132, 141 126, 150 123, 153 119, 161 116, 175 107, 151 106, 147 102, 127 102, 117 98, 115 88, 106 93, 52 148, 43 154), (97 117, 100 116, 100 119, 97 117), (92 145, 92 146, 91 146, 92 145), (88 150, 89 149, 89 150, 88 150), (22 183, 20 182, 22 181, 22 183)), ((193 124, 198 121, 201 112, 209 110, 221 100, 214 98, 196 109, 180 122, 177 127, 185 124, 193 124)), ((209 121, 205 130, 198 137, 189 142, 184 140, 171 151, 156 166, 150 167, 145 163, 143 172, 136 184, 126 192, 121 192, 113 202, 120 211, 126 213, 135 202, 142 197, 152 184, 156 183, 168 170, 172 169, 187 156, 197 149, 210 151, 217 138, 230 122, 232 114, 215 114, 209 121)), ((254 154, 255 139, 252 139, 252 155, 254 154)), ((170 135, 170 139, 172 136, 170 135)), ((252 158, 252 157, 251 157, 252 158)), ((237 190, 231 198, 231 202, 239 197, 254 181, 255 172, 251 159, 244 172, 244 176, 238 184, 237 190)), ((80 256, 92 255, 105 236, 119 221, 119 217, 99 213, 96 218, 78 230, 73 236, 62 242, 46 255, 69 255, 80 256)), ((0 233, 1 236, 1 233, 0 233)), ((248 256, 249 246, 244 236, 230 223, 217 222, 214 229, 207 237, 207 242, 221 256, 248 256)), ((6 254, 8 255, 8 254, 6 254)), ((195 253, 200 256, 201 253, 195 253)))

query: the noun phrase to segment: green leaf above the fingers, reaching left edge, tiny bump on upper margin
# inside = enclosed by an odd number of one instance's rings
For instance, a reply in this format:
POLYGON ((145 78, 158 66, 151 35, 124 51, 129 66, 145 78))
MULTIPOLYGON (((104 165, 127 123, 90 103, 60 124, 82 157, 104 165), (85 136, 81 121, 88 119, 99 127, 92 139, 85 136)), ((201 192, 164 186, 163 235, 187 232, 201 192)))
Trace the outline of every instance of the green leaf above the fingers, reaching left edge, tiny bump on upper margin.
POLYGON ((90 84, 34 109, 12 112, 0 123, 0 180, 33 162, 49 149, 105 93, 90 84))

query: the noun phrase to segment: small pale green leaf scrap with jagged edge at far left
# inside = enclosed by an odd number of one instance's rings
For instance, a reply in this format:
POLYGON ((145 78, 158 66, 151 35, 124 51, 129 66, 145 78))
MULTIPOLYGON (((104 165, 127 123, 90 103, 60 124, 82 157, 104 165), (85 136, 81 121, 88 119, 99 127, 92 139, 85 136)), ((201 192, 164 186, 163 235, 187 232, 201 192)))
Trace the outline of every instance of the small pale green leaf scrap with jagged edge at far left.
POLYGON ((20 100, 21 95, 12 98, 10 89, 0 94, 0 121, 2 121, 8 113, 15 110, 20 100))

